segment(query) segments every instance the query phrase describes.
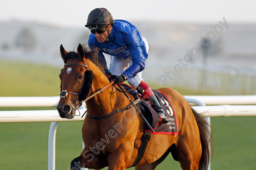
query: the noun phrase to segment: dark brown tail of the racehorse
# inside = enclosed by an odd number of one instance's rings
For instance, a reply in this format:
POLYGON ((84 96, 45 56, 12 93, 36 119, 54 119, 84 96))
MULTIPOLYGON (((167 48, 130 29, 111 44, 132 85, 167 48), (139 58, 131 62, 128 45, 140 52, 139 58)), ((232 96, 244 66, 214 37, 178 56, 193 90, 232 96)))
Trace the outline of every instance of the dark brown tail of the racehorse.
POLYGON ((191 110, 197 122, 202 145, 202 155, 199 160, 198 170, 207 170, 212 155, 212 127, 202 114, 197 113, 193 108, 191 110))

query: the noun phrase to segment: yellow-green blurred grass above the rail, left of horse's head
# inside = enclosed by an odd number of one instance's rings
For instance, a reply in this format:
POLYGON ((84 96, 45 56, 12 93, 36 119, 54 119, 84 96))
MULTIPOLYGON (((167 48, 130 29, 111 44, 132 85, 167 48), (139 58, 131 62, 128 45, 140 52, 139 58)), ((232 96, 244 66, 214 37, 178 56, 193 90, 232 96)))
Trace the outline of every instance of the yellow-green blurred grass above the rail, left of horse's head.
POLYGON ((58 96, 61 68, 0 60, 0 96, 58 96))

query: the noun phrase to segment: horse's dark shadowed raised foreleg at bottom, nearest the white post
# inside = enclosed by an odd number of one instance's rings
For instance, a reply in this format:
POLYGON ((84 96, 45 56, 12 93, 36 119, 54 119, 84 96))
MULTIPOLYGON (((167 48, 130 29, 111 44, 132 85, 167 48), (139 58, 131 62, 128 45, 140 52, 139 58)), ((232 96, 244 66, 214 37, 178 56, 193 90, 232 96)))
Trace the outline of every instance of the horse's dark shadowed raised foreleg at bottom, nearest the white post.
POLYGON ((108 166, 108 159, 102 155, 97 155, 94 152, 91 152, 89 149, 84 148, 81 155, 76 157, 70 163, 70 169, 80 169, 80 168, 89 168, 89 169, 102 169, 108 166))

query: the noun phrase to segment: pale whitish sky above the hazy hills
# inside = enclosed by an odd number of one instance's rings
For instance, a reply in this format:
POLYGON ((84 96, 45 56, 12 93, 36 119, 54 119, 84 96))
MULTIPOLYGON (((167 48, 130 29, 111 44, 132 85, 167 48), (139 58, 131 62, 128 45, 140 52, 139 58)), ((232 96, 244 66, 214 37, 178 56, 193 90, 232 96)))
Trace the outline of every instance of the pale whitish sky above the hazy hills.
MULTIPOLYGON (((255 0, 0 0, 0 22, 11 19, 83 28, 88 14, 106 8, 127 21, 255 23, 255 0)), ((161 28, 161 25, 159 25, 161 28)))

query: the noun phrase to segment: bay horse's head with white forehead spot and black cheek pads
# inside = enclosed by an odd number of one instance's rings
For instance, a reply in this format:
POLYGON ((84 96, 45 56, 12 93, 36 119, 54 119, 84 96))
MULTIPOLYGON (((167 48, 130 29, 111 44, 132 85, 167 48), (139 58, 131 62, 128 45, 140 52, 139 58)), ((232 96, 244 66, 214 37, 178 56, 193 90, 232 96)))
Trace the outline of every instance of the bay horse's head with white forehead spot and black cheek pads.
POLYGON ((81 105, 91 92, 93 75, 86 65, 87 59, 81 44, 77 47, 77 53, 67 52, 61 45, 60 53, 65 64, 59 75, 61 93, 57 110, 60 117, 72 119, 77 105, 81 105))

